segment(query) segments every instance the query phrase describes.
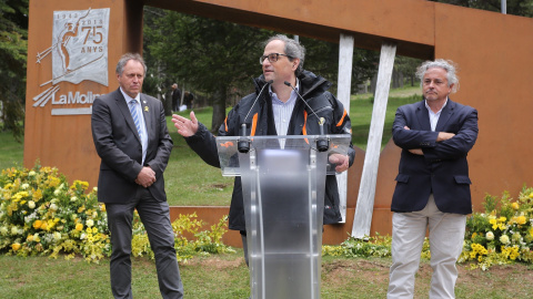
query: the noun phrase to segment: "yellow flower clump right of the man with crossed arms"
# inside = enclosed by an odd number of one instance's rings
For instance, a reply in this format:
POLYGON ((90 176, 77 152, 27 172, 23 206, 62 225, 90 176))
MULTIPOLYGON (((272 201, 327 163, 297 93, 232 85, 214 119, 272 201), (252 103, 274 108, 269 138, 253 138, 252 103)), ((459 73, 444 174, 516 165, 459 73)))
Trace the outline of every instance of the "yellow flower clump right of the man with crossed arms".
POLYGON ((485 213, 466 220, 463 252, 459 262, 471 268, 533 261, 533 188, 523 187, 514 200, 507 192, 501 198, 485 196, 485 213))

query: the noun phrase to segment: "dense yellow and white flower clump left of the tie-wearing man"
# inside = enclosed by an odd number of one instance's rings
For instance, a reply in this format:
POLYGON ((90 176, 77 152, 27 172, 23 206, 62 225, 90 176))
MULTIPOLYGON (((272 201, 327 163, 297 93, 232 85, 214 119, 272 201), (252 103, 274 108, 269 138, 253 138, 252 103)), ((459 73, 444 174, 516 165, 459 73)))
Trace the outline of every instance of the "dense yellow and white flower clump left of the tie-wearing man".
POLYGON ((110 254, 105 207, 87 182, 69 186, 57 168, 8 168, 0 175, 0 251, 18 256, 110 254))

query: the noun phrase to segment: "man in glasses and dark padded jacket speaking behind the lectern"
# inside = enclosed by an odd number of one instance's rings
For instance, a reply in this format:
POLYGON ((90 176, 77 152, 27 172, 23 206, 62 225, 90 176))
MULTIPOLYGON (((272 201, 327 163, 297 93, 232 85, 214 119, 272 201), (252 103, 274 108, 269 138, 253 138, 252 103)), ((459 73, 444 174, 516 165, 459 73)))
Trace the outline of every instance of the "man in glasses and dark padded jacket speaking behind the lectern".
MULTIPOLYGON (((255 93, 244 96, 221 125, 218 136, 237 136, 241 124, 247 124, 248 135, 318 135, 315 116, 324 117, 325 134, 351 134, 351 123, 344 110, 328 89, 330 82, 303 70, 305 49, 285 35, 275 35, 265 42, 260 59, 263 74, 254 80, 255 93), (271 82, 271 83, 270 83, 271 82), (288 85, 285 82, 290 83, 288 85), (312 111, 300 99, 302 95, 312 111), (265 87, 263 92, 261 92, 265 87), (258 99, 258 95, 259 99, 258 99), (255 99, 258 99, 255 101, 255 99), (248 116, 248 117, 247 117, 248 116)), ((178 133, 185 137, 189 146, 209 165, 220 167, 215 137, 194 116, 191 120, 172 115, 178 133)), ((336 164, 336 172, 344 172, 352 165, 355 151, 350 147, 346 156, 330 157, 336 164)), ((329 175, 325 183, 324 224, 341 220, 336 178, 329 175)), ((230 206, 229 228, 240 230, 247 250, 244 207, 240 177, 235 177, 230 206)), ((247 255, 247 252, 244 252, 247 255)))

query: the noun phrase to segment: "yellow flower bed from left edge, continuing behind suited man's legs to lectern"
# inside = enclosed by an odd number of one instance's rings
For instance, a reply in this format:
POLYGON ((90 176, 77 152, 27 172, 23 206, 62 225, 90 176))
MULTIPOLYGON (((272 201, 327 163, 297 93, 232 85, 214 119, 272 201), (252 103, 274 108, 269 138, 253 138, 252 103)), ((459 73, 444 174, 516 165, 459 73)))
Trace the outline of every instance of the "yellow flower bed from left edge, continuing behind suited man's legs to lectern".
MULTIPOLYGON (((97 189, 88 190, 87 182, 69 186, 57 168, 37 165, 32 169, 8 168, 0 175, 0 254, 17 256, 44 255, 66 258, 81 255, 98 262, 111 255, 105 206, 98 203, 97 189)), ((174 229, 178 258, 192 255, 228 252, 222 244, 225 218, 199 231, 203 223, 197 215, 180 215, 174 229), (183 233, 194 236, 188 240, 183 233)), ((153 258, 144 227, 135 212, 132 255, 153 258)))

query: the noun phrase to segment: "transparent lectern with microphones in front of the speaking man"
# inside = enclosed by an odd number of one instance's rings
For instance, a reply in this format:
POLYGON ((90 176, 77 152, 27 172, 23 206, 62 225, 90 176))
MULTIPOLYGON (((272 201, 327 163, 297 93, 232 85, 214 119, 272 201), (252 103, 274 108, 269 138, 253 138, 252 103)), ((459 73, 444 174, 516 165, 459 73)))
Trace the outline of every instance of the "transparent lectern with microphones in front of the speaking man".
POLYGON ((320 298, 329 155, 350 135, 217 137, 224 176, 241 176, 252 299, 320 298), (326 140, 326 151, 316 142, 326 140), (238 151, 239 142, 249 151, 238 151))

